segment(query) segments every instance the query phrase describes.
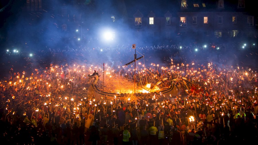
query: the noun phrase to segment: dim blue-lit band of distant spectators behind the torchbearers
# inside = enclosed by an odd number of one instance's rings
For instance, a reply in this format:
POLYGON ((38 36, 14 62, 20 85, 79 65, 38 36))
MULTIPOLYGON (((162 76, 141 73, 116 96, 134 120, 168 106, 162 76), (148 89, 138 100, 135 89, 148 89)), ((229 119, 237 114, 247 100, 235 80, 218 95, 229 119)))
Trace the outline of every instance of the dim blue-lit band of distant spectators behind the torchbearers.
MULTIPOLYGON (((17 56, 19 55, 20 57, 31 57, 30 54, 33 54, 33 57, 35 58, 48 58, 52 57, 52 61, 57 60, 60 61, 62 58, 69 57, 72 55, 76 55, 78 59, 82 57, 87 57, 86 54, 91 54, 94 57, 96 56, 95 59, 98 58, 99 55, 103 54, 108 54, 107 56, 103 57, 108 57, 110 56, 111 58, 114 57, 120 57, 117 56, 118 54, 123 54, 123 56, 130 56, 129 52, 132 51, 132 46, 131 44, 127 45, 121 45, 118 44, 117 46, 109 46, 109 47, 100 47, 100 46, 93 46, 93 47, 87 47, 87 46, 79 46, 77 48, 72 48, 69 46, 65 46, 64 48, 43 48, 40 49, 38 48, 35 50, 34 48, 30 48, 27 46, 21 46, 21 47, 16 47, 12 46, 14 48, 13 50, 9 51, 3 51, 1 52, 1 56, 3 58, 10 57, 12 55, 17 56), (17 50, 17 51, 16 51, 17 50), (55 59, 56 58, 56 59, 55 59)), ((257 52, 257 45, 253 43, 246 44, 245 42, 238 42, 238 43, 227 43, 227 44, 217 44, 217 43, 203 43, 203 44, 197 44, 197 43, 179 43, 179 44, 171 44, 171 45, 166 45, 166 44, 159 44, 159 45, 154 45, 154 46, 136 46, 136 49, 138 52, 141 54, 153 54, 156 53, 156 56, 160 58, 164 57, 171 57, 171 55, 174 54, 184 54, 189 58, 190 60, 197 59, 193 56, 197 55, 198 57, 201 57, 203 55, 206 55, 207 57, 210 57, 211 59, 216 59, 217 56, 226 56, 231 55, 238 56, 238 54, 242 53, 243 51, 248 54, 250 53, 256 53, 257 52), (215 56, 212 58, 212 56, 215 56)), ((93 57, 91 56, 91 57, 93 57)), ((182 57, 182 56, 181 56, 182 57)), ((233 57, 232 57, 233 58, 233 57)), ((70 58, 71 59, 71 58, 70 58)), ((107 59, 108 60, 108 59, 107 59)))

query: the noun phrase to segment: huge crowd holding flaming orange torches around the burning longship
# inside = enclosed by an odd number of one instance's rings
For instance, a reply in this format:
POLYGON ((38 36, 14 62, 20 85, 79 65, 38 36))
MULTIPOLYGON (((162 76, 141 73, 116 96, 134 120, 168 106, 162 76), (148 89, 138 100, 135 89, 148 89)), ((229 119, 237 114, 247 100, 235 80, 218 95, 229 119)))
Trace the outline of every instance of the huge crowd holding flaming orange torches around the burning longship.
MULTIPOLYGON (((189 47, 196 46, 180 48, 180 45, 164 45, 137 49, 145 53, 155 51, 163 54, 164 51, 191 50, 189 47)), ((199 47, 205 50, 203 46, 199 47)), ((125 51, 123 48, 131 49, 130 46, 119 46, 103 51, 120 54, 125 51)), ((213 45, 208 48, 213 49, 213 45)), ((220 49, 230 51, 223 45, 220 49)), ((101 53, 101 50, 74 50, 68 47, 64 50, 40 50, 34 53, 34 61, 43 59, 44 67, 31 68, 29 73, 11 68, 9 76, 0 83, 0 139, 9 144, 183 145, 255 142, 258 96, 257 72, 254 69, 212 62, 200 65, 179 63, 171 58, 169 66, 150 69, 147 74, 148 81, 155 81, 151 79, 153 76, 160 79, 167 77, 163 83, 174 83, 178 89, 176 96, 164 97, 161 93, 152 98, 107 100, 103 96, 98 100, 95 96, 87 95, 91 80, 87 79, 86 74, 91 73, 94 66, 85 70, 86 67, 79 65, 78 61, 76 65, 70 65, 54 64, 54 60, 47 60, 52 57, 58 62, 67 55, 84 57, 85 51, 91 54, 94 51, 101 53)), ((214 50, 217 53, 218 49, 214 50)), ((19 55, 24 57, 25 53, 21 51, 19 55)), ((13 55, 17 54, 3 54, 7 59, 13 55)), ((121 76, 129 73, 126 69, 124 72, 122 70, 113 73, 121 76)), ((137 81, 140 81, 141 75, 146 73, 139 71, 137 81)))

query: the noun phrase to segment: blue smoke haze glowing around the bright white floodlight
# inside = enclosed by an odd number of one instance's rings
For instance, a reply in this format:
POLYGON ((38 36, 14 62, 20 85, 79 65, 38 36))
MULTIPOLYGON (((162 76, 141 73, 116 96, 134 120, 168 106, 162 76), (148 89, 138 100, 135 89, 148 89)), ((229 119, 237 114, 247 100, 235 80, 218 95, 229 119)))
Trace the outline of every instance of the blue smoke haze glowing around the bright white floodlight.
MULTIPOLYGON (((132 5, 132 2, 124 1, 132 5)), ((166 5, 165 2, 161 3, 160 1, 151 0, 150 3, 139 1, 139 3, 135 6, 137 9, 150 7, 153 8, 154 13, 165 13, 168 9, 171 12, 177 10, 175 6, 166 5), (153 6, 153 3, 156 4, 153 6)), ((142 39, 139 40, 134 36, 137 30, 130 26, 126 13, 123 11, 123 5, 118 0, 86 0, 83 6, 75 6, 69 0, 48 0, 42 2, 43 10, 40 12, 28 12, 19 7, 23 7, 25 4, 26 1, 19 1, 19 3, 14 3, 9 11, 0 12, 1 14, 9 14, 1 16, 4 19, 0 31, 1 51, 5 52, 6 49, 16 48, 23 52, 21 55, 23 58, 16 60, 16 62, 24 61, 24 58, 28 57, 25 54, 30 52, 39 54, 38 58, 29 59, 33 61, 33 67, 43 68, 51 62, 64 65, 75 61, 99 64, 105 62, 114 67, 122 66, 134 59, 134 51, 130 49, 132 44, 136 44, 137 51, 145 56, 146 65, 152 62, 160 66, 169 65, 170 58, 173 58, 175 63, 179 64, 194 61, 199 65, 206 65, 206 63, 213 61, 221 68, 222 64, 257 67, 255 63, 257 62, 257 50, 241 49, 243 43, 247 42, 245 40, 238 43, 220 42, 219 39, 199 40, 197 42, 198 38, 178 37, 177 34, 172 36, 175 41, 170 42, 148 36, 142 36, 142 39), (62 15, 64 7, 66 7, 66 14, 62 15), (112 16, 115 17, 115 21, 111 18, 112 16), (67 26, 66 30, 62 28, 64 24, 67 26), (110 29, 114 32, 114 40, 109 42, 103 40, 101 34, 104 29, 110 29), (79 38, 80 41, 78 41, 79 38), (222 43, 224 46, 219 46, 222 43), (174 46, 174 44, 176 45, 174 46), (203 48, 204 44, 208 45, 207 49, 203 48), (167 45, 169 45, 168 48, 167 45), (214 50, 211 48, 213 45, 220 47, 221 50, 216 50, 216 48, 214 50), (179 46, 183 48, 179 49, 179 46), (62 59, 40 53, 40 50, 45 50, 46 54, 49 54, 51 50, 59 54, 61 51, 67 51, 71 48, 75 51, 82 49, 84 51, 79 52, 79 56, 75 56, 74 53, 65 53, 65 56, 61 57, 62 59), (195 52, 196 48, 197 52, 195 52), (241 59, 244 59, 245 62, 241 59), (254 61, 249 60, 250 63, 247 63, 246 59, 254 61)), ((133 13, 131 11, 136 11, 136 9, 127 8, 128 13, 133 13)), ((139 53, 137 54, 137 57, 141 56, 139 53)), ((5 59, 2 57, 1 62, 9 69, 10 65, 13 64, 5 59)), ((15 58, 13 61, 15 63, 15 58)), ((26 64, 22 66, 26 66, 26 64)))

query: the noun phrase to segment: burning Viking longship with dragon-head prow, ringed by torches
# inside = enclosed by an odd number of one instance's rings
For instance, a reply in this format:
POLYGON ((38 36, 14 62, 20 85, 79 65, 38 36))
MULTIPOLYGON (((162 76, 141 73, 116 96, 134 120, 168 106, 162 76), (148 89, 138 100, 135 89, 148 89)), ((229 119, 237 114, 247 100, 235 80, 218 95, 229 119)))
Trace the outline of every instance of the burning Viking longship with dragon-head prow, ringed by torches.
MULTIPOLYGON (((149 72, 149 77, 155 78, 155 81, 147 82, 146 78, 140 78, 138 76, 138 80, 136 82, 136 61, 143 58, 141 56, 136 58, 136 50, 134 54, 134 60, 125 64, 127 66, 134 62, 134 75, 133 80, 128 79, 127 76, 121 76, 119 74, 115 75, 114 77, 108 77, 105 79, 105 85, 100 79, 100 75, 96 70, 92 75, 88 75, 88 77, 94 78, 93 82, 89 85, 89 89, 87 91, 88 96, 95 96, 96 99, 104 98, 108 100, 114 99, 114 97, 119 97, 120 99, 126 99, 128 97, 135 97, 136 99, 150 99, 156 95, 163 95, 165 99, 169 99, 170 97, 175 97, 178 95, 178 89, 174 84, 174 80, 177 81, 178 78, 169 79, 168 77, 159 78, 157 75, 150 72, 148 69, 145 70, 145 74, 143 76, 147 76, 146 72, 149 72), (144 82, 146 81, 146 82, 144 82), (112 82, 112 83, 110 83, 112 82), (137 83, 137 85, 136 85, 137 83), (103 85, 102 85, 103 84, 103 85), (102 85, 102 86, 101 86, 102 85)), ((104 64, 103 64, 104 66, 104 64)), ((138 72, 139 74, 139 72, 138 72)), ((102 78, 102 77, 101 77, 102 78)), ((104 77, 103 80, 104 81, 104 77)))

